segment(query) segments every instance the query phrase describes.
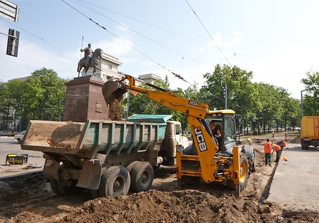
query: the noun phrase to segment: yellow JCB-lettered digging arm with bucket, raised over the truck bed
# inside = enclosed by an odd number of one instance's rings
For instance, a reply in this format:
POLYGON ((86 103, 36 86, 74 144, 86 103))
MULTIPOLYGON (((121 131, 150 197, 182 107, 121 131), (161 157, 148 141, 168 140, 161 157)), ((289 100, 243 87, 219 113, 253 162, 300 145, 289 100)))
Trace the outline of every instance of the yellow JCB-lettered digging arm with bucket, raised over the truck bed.
POLYGON ((109 98, 118 88, 130 89, 147 95, 148 98, 166 105, 167 107, 178 110, 186 114, 189 125, 191 127, 192 137, 196 144, 198 158, 201 164, 201 175, 205 182, 215 181, 215 168, 212 168, 212 160, 218 151, 218 145, 211 136, 211 131, 205 118, 208 114, 208 105, 205 103, 192 101, 182 98, 174 94, 174 92, 157 87, 155 85, 145 83, 159 91, 146 89, 135 85, 135 79, 126 75, 118 81, 108 81, 102 87, 102 93, 105 102, 109 102, 109 98), (129 83, 125 81, 128 80, 129 83))

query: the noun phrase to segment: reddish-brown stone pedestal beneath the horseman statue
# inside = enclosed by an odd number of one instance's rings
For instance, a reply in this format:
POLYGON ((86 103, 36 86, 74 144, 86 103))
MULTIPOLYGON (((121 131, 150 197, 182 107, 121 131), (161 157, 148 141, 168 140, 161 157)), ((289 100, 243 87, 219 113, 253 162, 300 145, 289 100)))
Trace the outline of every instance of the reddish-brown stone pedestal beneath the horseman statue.
POLYGON ((100 78, 92 76, 74 78, 65 83, 62 121, 110 120, 109 108, 102 95, 103 84, 100 78))

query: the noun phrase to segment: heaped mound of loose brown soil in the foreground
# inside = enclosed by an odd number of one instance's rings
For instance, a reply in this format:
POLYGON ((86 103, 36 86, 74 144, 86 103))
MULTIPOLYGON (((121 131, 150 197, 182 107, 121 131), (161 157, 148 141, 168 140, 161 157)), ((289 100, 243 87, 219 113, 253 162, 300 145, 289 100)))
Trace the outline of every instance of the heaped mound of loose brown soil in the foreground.
MULTIPOLYGON (((197 190, 161 192, 151 190, 130 196, 90 200, 59 222, 246 222, 244 210, 234 196, 217 198, 197 190), (146 217, 147 216, 147 217, 146 217)), ((254 211, 256 212, 256 210, 254 211)), ((251 212, 252 213, 252 212, 251 212)), ((257 216, 251 216, 253 220, 257 216)), ((258 217, 257 217, 258 219, 258 217)), ((253 220, 255 222, 255 220, 253 220)))

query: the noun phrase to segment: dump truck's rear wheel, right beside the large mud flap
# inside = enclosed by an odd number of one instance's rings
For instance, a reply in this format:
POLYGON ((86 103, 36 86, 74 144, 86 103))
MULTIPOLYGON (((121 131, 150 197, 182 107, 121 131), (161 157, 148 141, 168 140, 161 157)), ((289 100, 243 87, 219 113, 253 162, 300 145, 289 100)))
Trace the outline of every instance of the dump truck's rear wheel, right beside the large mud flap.
POLYGON ((99 195, 101 197, 127 195, 130 182, 129 171, 124 166, 111 166, 101 176, 99 195))

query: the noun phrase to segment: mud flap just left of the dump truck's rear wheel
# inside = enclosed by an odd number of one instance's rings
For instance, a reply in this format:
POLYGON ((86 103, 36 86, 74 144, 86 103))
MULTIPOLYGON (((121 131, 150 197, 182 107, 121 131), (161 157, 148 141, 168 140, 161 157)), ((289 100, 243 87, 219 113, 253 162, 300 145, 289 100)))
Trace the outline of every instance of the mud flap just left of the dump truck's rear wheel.
POLYGON ((97 190, 101 179, 102 165, 83 163, 77 187, 97 190))

